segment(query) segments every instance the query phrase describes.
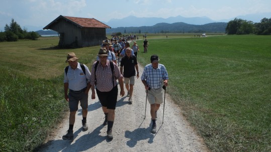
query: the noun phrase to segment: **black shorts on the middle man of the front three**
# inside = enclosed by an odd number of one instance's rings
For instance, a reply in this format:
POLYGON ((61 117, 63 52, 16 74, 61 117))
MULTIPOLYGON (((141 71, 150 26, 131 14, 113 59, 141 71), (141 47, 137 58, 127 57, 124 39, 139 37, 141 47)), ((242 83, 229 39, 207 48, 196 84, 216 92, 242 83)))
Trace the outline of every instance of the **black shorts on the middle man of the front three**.
POLYGON ((113 87, 113 89, 109 92, 101 92, 97 88, 96 92, 102 106, 107 107, 108 109, 116 109, 118 98, 118 85, 113 87))

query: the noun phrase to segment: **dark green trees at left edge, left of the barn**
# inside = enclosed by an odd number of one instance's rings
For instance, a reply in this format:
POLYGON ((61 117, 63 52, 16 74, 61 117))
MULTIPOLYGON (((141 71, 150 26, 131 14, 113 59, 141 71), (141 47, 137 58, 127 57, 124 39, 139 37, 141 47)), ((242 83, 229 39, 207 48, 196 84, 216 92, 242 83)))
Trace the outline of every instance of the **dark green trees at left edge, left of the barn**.
POLYGON ((18 41, 22 39, 36 40, 40 35, 36 32, 27 32, 22 29, 14 19, 11 20, 10 26, 6 24, 5 32, 0 32, 0 42, 4 41, 18 41))

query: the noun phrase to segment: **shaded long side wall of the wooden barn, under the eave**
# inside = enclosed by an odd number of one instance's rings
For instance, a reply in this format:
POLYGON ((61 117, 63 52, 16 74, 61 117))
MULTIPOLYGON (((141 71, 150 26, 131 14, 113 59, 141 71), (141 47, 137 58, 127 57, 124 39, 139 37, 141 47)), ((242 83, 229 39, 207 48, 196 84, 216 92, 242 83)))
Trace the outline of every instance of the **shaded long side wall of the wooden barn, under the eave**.
POLYGON ((106 38, 105 28, 82 28, 82 47, 98 46, 106 38))

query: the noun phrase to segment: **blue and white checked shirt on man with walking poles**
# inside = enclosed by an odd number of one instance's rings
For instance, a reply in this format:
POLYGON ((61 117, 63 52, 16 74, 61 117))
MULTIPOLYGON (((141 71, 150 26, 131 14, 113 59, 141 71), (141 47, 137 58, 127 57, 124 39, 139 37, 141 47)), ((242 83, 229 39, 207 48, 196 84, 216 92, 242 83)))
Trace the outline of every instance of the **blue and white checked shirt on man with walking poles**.
POLYGON ((158 64, 158 68, 154 69, 151 64, 146 65, 141 80, 145 80, 150 88, 159 89, 163 85, 163 80, 168 80, 165 66, 158 64))

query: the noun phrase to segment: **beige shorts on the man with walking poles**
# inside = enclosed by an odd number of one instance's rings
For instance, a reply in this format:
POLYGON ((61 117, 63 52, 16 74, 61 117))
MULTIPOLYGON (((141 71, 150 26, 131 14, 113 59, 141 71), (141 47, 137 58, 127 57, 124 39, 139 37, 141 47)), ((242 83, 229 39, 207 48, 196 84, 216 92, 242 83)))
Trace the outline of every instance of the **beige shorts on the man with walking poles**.
POLYGON ((150 104, 162 104, 163 103, 163 89, 150 89, 148 90, 148 101, 150 104))

